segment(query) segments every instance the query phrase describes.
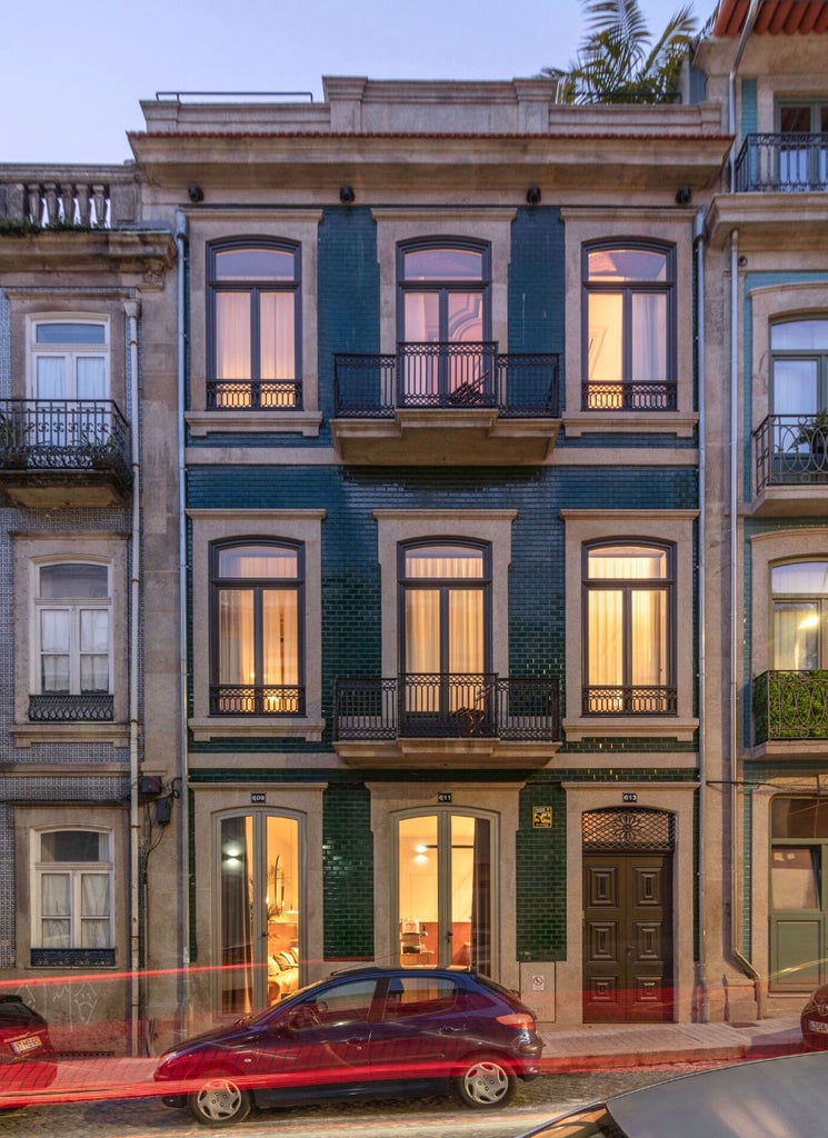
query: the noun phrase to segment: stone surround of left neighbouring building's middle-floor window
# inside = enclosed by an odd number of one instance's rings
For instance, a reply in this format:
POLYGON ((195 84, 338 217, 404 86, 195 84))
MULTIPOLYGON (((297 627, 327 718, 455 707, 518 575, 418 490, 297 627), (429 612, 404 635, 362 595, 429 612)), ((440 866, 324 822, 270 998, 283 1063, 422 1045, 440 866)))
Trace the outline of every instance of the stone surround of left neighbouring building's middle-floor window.
POLYGON ((127 653, 127 543, 113 533, 13 534, 15 587, 15 721, 9 733, 15 745, 43 742, 109 742, 129 740, 127 653), (109 566, 111 602, 113 723, 30 723, 28 696, 35 668, 36 568, 59 561, 85 561, 109 566))

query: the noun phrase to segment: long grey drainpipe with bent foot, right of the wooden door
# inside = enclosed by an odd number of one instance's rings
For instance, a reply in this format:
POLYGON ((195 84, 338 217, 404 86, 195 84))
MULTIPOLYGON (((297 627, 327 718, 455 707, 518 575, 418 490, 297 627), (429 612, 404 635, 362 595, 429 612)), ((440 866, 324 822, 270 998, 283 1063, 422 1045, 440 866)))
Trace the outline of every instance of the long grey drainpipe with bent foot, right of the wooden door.
POLYGON ((739 546, 738 546, 738 471, 739 471, 739 231, 730 233, 730 941, 734 958, 742 965, 745 973, 754 981, 759 1017, 762 1019, 762 982, 753 964, 738 949, 738 912, 740 877, 737 873, 739 826, 737 808, 739 794, 738 774, 738 682, 737 666, 739 659, 738 644, 742 640, 738 616, 739 600, 739 546))

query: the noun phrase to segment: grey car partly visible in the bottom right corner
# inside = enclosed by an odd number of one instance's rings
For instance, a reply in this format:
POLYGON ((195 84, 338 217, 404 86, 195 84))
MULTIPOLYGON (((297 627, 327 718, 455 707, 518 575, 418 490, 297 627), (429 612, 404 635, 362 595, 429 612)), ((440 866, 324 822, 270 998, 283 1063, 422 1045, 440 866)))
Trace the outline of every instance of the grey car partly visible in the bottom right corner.
POLYGON ((521 1138, 822 1138, 828 1055, 784 1055, 613 1095, 521 1138))

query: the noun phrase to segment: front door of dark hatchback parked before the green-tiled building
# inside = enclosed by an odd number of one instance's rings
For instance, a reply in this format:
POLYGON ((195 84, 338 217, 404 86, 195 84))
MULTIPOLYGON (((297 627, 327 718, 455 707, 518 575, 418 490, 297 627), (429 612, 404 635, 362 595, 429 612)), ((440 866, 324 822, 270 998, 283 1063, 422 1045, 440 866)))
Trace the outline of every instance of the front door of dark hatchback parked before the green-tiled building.
POLYGON ((249 1065, 259 1102, 363 1081, 376 986, 375 978, 336 981, 268 1017, 249 1065))

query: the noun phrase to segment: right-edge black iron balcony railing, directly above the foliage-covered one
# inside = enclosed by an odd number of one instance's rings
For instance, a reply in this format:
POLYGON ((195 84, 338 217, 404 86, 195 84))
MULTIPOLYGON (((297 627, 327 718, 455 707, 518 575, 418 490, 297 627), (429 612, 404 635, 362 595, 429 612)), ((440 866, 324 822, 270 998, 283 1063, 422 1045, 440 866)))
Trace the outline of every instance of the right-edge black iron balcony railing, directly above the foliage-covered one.
POLYGON ((753 432, 756 492, 828 483, 828 414, 768 415, 753 432))

